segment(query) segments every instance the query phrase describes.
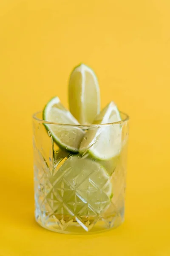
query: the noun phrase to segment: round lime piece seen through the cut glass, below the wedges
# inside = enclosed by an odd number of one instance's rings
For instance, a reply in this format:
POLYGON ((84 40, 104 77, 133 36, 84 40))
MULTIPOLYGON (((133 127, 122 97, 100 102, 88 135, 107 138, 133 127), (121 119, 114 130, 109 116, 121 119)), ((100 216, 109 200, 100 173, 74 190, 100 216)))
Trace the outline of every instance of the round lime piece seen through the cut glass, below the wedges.
POLYGON ((56 214, 83 215, 88 207, 88 215, 100 214, 111 202, 111 177, 99 163, 81 158, 79 155, 68 157, 51 177, 53 189, 48 195, 56 202, 56 214))

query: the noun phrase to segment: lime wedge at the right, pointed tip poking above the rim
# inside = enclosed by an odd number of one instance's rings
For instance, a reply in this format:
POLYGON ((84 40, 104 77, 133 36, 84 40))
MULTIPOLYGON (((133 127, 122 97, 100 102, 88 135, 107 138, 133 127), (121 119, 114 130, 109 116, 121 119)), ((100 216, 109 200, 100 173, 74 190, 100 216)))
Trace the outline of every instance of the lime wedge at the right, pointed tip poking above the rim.
MULTIPOLYGON (((120 120, 121 117, 116 105, 114 102, 110 102, 96 116, 94 124, 107 124, 120 120)), ((119 123, 92 127, 85 134, 79 152, 82 155, 88 153, 99 160, 109 160, 119 154, 121 136, 122 128, 119 123)))

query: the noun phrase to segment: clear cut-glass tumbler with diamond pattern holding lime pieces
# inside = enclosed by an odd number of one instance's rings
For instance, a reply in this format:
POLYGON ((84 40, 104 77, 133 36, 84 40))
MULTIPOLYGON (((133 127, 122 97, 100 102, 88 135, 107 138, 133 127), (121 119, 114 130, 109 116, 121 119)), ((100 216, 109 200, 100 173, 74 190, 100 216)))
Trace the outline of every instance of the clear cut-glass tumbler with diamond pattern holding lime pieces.
POLYGON ((43 121, 42 112, 34 114, 35 219, 42 227, 59 233, 96 233, 124 221, 129 118, 124 113, 121 117, 110 124, 66 125, 43 121), (63 136, 72 131, 73 140, 77 128, 84 134, 98 131, 99 136, 80 154, 57 145, 45 124, 62 129, 63 136), (112 152, 113 157, 105 159, 112 152))

